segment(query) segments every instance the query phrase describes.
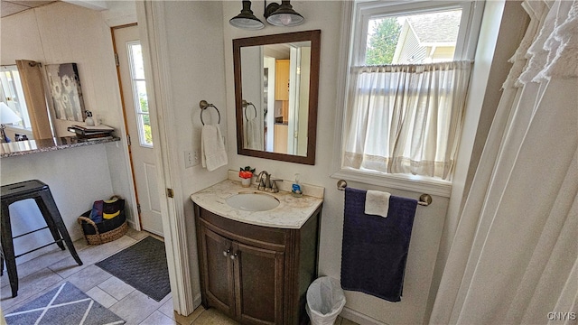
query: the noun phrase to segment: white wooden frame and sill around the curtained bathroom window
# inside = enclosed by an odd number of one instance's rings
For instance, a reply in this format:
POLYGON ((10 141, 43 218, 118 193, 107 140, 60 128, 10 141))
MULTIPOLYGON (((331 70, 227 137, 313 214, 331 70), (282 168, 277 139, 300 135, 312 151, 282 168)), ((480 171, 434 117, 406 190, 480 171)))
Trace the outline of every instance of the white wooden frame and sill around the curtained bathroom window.
POLYGON ((333 160, 333 170, 336 172, 331 174, 331 178, 347 179, 400 190, 427 191, 432 195, 450 197, 452 181, 411 174, 393 174, 341 167, 344 151, 343 135, 345 132, 343 121, 344 116, 347 114, 346 103, 348 96, 350 96, 350 70, 356 65, 359 66, 360 60, 365 59, 365 44, 367 44, 365 35, 368 32, 369 19, 378 16, 418 14, 455 8, 462 9, 461 26, 465 25, 466 27, 460 28, 458 33, 454 60, 473 60, 480 34, 484 5, 484 1, 395 1, 387 3, 382 1, 359 1, 344 4, 339 76, 339 88, 342 90, 340 93, 343 95, 338 100, 338 107, 341 111, 338 112, 336 117, 335 159, 333 160))

